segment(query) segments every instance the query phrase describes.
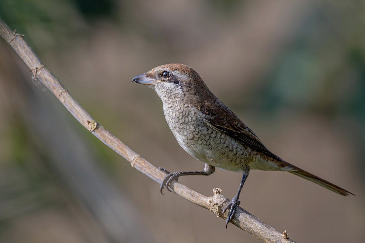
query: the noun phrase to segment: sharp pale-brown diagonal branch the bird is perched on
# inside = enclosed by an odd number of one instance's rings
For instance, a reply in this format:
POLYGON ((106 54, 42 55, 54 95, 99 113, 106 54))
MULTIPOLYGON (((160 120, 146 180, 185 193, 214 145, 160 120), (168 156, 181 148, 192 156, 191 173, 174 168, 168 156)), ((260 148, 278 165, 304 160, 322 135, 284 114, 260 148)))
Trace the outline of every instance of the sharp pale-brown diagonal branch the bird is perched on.
MULTIPOLYGON (((24 41, 23 35, 17 34, 16 31, 11 31, 2 19, 0 19, 0 35, 12 48, 14 48, 16 53, 30 68, 33 75, 32 80, 34 82, 41 81, 58 98, 73 117, 76 118, 82 126, 84 126, 84 128, 88 129, 105 145, 129 161, 133 168, 150 177, 157 183, 161 183, 164 180, 164 177, 166 176, 164 172, 150 164, 107 129, 97 123, 91 115, 85 111, 75 99, 72 98, 68 90, 62 86, 58 79, 54 77, 54 75, 41 63, 39 58, 24 41)), ((170 187, 177 195, 199 205, 200 207, 209 209, 214 212, 217 217, 224 220, 227 218, 227 213, 222 215, 220 212, 222 212, 222 209, 227 205, 229 200, 228 198, 220 195, 220 189, 215 188, 214 196, 207 197, 185 187, 177 181, 173 181, 170 187)), ((294 242, 288 238, 286 232, 284 232, 284 235, 281 234, 273 227, 262 222, 260 219, 240 207, 237 208, 231 223, 238 228, 249 232, 262 242, 294 242)))

